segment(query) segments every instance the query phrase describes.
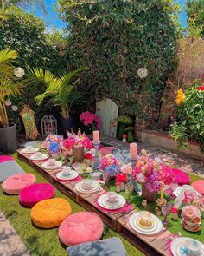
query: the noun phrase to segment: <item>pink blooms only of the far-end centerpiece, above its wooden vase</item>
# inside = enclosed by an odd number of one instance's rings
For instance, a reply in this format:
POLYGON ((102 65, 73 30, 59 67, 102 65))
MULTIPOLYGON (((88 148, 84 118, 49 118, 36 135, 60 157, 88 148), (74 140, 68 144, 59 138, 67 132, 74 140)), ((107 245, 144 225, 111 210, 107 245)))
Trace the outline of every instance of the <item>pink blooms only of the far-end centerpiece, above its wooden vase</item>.
POLYGON ((70 134, 67 133, 68 138, 63 142, 63 146, 66 149, 72 149, 74 148, 86 148, 90 149, 92 148, 92 141, 85 135, 81 134, 80 130, 78 131, 78 134, 75 135, 74 133, 70 134))

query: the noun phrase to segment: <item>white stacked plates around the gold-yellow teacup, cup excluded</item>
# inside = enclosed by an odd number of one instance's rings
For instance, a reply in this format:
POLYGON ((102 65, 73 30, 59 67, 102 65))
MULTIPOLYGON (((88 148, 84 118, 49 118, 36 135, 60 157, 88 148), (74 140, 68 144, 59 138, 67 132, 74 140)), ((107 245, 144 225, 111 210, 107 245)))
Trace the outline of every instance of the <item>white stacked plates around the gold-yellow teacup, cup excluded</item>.
POLYGON ((139 219, 140 219, 140 214, 139 213, 134 213, 131 215, 129 219, 129 225, 131 228, 136 231, 137 233, 143 233, 143 234, 156 234, 160 233, 163 229, 163 223, 159 218, 156 217, 156 215, 151 214, 152 220, 153 220, 153 225, 150 227, 143 227, 139 225, 139 219))

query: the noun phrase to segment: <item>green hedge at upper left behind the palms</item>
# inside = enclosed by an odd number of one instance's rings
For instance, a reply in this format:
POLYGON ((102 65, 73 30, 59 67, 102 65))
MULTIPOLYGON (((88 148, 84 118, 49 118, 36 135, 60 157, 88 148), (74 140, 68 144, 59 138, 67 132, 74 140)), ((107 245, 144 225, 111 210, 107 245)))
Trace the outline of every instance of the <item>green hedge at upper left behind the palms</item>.
MULTIPOLYGON (((0 9, 0 49, 5 48, 18 51, 18 65, 23 69, 28 66, 42 67, 59 75, 67 68, 65 44, 61 35, 54 33, 47 36, 42 21, 20 8, 0 9)), ((35 110, 35 119, 39 127, 43 115, 57 115, 57 110, 50 108, 47 102, 41 106, 35 104, 35 96, 42 91, 40 85, 25 87, 20 97, 11 99, 11 102, 19 108, 17 112, 8 108, 10 122, 17 124, 18 133, 24 134, 22 120, 18 115, 24 104, 35 110)))

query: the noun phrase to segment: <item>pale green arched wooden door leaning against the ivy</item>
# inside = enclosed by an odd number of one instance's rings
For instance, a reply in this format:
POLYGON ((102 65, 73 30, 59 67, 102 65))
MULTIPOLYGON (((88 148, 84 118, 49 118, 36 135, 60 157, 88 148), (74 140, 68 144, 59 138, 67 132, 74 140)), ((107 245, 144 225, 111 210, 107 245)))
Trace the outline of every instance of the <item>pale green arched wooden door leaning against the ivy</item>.
POLYGON ((101 118, 100 133, 102 135, 116 138, 117 123, 114 121, 118 117, 118 106, 111 99, 105 99, 96 103, 96 114, 101 118))

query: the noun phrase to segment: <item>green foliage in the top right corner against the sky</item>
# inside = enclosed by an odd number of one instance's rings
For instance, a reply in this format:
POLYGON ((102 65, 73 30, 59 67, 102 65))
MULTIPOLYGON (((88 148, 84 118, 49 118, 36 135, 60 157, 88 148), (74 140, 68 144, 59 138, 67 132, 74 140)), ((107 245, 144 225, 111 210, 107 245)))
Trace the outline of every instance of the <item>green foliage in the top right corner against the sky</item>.
POLYGON ((190 35, 204 37, 204 0, 187 0, 186 6, 190 35))

